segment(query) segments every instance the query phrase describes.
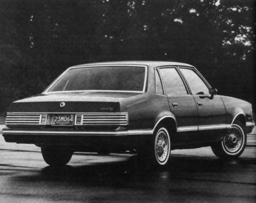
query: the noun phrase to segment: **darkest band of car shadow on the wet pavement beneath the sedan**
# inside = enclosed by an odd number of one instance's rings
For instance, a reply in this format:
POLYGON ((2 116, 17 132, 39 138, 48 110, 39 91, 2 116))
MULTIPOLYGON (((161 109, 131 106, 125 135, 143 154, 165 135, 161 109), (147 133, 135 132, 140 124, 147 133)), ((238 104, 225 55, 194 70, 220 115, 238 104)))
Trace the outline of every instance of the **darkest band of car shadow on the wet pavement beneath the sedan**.
MULTIPOLYGON (((53 182, 74 182, 84 186, 112 186, 124 187, 136 184, 138 181, 151 182, 161 178, 168 178, 172 181, 178 179, 191 179, 206 177, 214 180, 221 174, 222 177, 230 173, 243 173, 249 165, 255 168, 255 159, 221 160, 218 158, 202 158, 193 156, 172 157, 168 167, 153 167, 150 163, 139 163, 136 156, 128 161, 112 163, 94 163, 89 165, 65 165, 63 167, 45 167, 41 171, 18 176, 15 179, 20 181, 53 181, 53 182)), ((254 184, 254 183, 253 183, 254 184)))

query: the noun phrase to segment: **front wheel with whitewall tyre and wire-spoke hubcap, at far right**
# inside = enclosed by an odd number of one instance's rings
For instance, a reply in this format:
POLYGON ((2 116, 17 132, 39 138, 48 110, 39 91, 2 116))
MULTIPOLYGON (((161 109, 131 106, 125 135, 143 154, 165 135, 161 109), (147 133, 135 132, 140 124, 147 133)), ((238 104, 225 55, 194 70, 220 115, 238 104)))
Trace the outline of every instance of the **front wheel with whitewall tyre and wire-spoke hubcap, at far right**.
POLYGON ((213 153, 220 158, 239 157, 246 145, 246 133, 240 122, 234 122, 221 142, 212 146, 213 153))

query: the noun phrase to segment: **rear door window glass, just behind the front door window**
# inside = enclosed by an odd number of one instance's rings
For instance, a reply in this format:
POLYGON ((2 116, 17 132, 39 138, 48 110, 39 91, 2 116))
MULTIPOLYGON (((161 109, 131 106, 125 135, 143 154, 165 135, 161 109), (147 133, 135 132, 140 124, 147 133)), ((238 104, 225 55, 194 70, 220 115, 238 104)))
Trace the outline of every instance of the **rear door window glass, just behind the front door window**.
POLYGON ((187 94, 186 87, 175 68, 161 68, 160 73, 167 95, 187 94))

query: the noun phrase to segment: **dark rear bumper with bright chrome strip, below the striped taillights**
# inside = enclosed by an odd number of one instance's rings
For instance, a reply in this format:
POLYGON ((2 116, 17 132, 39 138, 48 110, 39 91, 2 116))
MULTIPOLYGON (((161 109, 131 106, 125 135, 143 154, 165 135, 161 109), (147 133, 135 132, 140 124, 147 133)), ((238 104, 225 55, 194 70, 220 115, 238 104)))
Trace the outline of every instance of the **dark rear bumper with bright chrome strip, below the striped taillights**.
POLYGON ((97 152, 98 148, 112 151, 136 149, 144 140, 150 139, 152 130, 130 131, 71 131, 71 130, 14 130, 3 129, 6 142, 43 145, 67 145, 73 149, 97 152), (79 147, 78 147, 79 146, 79 147))

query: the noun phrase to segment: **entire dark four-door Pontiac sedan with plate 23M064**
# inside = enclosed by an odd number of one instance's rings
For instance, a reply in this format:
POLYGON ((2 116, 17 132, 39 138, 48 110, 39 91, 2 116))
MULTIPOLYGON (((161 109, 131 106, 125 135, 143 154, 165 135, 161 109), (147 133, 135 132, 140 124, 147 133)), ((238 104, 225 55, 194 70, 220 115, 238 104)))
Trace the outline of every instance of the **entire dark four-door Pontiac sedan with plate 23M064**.
POLYGON ((49 165, 73 152, 130 151, 163 166, 175 149, 237 158, 253 126, 250 103, 217 95, 189 64, 122 61, 70 67, 43 93, 14 101, 3 136, 41 147, 49 165))

